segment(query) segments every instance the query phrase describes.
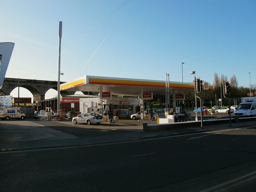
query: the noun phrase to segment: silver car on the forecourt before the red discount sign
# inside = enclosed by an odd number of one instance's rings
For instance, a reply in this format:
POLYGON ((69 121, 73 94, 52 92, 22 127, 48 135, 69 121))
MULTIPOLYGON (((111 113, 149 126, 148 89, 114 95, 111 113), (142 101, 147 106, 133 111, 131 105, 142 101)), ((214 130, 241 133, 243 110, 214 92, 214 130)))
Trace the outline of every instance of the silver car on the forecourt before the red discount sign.
POLYGON ((72 118, 72 122, 74 124, 77 124, 77 123, 86 123, 88 125, 92 123, 100 124, 100 122, 102 121, 103 121, 102 116, 97 113, 81 113, 77 117, 72 118))

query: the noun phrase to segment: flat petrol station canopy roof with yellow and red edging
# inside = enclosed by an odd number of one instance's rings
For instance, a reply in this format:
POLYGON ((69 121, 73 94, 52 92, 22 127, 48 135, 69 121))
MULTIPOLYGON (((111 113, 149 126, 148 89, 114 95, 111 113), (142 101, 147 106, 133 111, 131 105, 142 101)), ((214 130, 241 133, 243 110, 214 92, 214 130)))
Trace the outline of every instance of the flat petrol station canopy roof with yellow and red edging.
MULTIPOLYGON (((194 92, 194 82, 169 82, 171 94, 194 92)), ((144 80, 130 78, 114 78, 100 76, 83 76, 70 82, 60 85, 60 90, 81 91, 81 92, 112 92, 112 95, 140 96, 141 91, 155 94, 166 93, 166 81, 144 80)), ((209 90, 213 86, 209 85, 209 90)))

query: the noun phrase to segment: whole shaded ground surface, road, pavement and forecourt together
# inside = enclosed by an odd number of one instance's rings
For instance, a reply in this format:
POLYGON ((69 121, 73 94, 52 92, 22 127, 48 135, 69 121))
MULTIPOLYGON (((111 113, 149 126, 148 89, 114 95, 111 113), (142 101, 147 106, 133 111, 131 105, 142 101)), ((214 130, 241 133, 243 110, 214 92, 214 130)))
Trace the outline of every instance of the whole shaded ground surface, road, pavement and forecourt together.
POLYGON ((255 121, 150 133, 139 121, 0 125, 2 149, 17 147, 0 152, 2 191, 256 190, 255 121))

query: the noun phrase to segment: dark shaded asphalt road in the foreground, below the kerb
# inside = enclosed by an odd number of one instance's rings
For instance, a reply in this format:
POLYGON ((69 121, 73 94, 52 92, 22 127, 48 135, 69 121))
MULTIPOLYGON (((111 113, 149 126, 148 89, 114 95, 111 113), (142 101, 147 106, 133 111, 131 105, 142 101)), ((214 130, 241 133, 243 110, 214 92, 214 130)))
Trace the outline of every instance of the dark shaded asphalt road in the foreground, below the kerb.
POLYGON ((2 152, 1 191, 256 191, 255 128, 2 152))

